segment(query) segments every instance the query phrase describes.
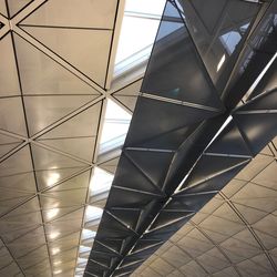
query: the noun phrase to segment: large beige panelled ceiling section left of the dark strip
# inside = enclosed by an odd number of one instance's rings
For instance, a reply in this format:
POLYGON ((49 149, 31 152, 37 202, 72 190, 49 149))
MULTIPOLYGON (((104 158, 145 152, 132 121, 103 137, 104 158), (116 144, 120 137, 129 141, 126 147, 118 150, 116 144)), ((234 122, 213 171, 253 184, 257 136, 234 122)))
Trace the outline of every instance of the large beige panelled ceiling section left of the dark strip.
POLYGON ((117 163, 100 155, 107 101, 131 113, 138 93, 110 89, 123 10, 0 0, 0 276, 82 275, 99 224, 90 208, 107 196, 91 178, 117 163))

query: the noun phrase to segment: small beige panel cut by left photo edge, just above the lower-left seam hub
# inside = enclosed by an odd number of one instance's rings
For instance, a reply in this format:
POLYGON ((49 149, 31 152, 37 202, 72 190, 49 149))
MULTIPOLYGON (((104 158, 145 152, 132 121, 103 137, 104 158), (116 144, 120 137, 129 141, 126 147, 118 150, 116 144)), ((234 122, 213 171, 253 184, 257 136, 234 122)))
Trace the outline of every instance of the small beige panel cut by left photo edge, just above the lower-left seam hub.
POLYGON ((21 98, 0 99, 0 129, 27 136, 21 98))

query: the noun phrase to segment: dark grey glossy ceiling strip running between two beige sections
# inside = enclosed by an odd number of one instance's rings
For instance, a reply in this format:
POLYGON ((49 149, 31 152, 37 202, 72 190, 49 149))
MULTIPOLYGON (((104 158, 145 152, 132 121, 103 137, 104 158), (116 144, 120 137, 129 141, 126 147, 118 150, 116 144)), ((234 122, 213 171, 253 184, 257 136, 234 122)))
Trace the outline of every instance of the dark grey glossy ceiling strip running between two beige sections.
POLYGON ((199 2, 166 2, 84 276, 131 275, 276 136, 276 62, 243 80, 276 52, 276 1, 199 2))

